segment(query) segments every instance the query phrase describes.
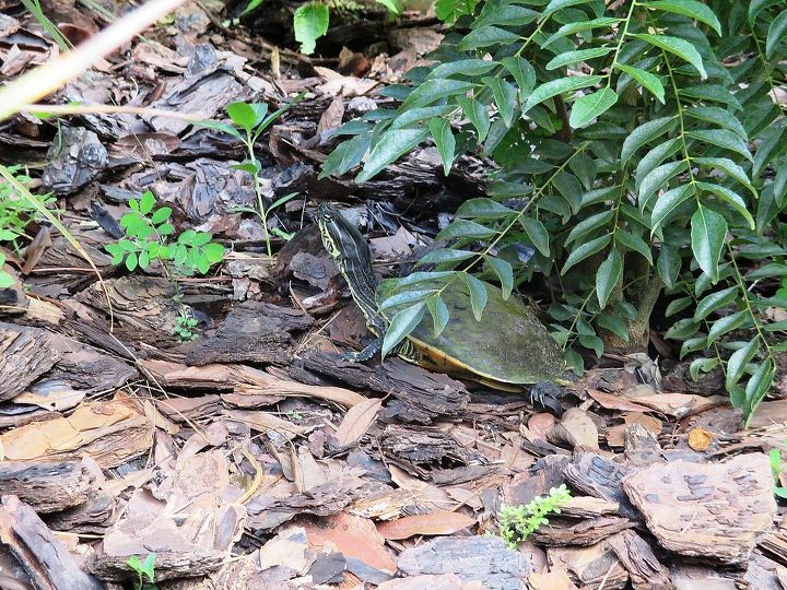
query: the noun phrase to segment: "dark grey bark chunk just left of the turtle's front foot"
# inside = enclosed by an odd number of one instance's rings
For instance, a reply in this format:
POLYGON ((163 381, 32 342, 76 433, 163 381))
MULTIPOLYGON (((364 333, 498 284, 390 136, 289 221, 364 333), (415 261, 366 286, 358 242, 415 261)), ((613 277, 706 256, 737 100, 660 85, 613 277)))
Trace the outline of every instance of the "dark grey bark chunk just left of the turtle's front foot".
POLYGON ((293 331, 305 330, 314 318, 298 309, 258 302, 233 308, 213 338, 200 340, 186 355, 188 365, 210 363, 275 363, 292 359, 293 331))

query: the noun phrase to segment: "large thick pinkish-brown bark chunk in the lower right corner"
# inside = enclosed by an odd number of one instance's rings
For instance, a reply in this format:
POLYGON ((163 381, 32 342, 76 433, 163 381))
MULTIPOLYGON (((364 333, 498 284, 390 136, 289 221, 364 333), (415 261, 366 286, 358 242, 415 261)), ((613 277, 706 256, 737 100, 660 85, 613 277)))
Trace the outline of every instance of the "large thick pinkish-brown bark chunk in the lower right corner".
POLYGON ((655 463, 622 485, 662 546, 724 564, 745 562, 776 515, 773 474, 762 453, 726 463, 655 463))

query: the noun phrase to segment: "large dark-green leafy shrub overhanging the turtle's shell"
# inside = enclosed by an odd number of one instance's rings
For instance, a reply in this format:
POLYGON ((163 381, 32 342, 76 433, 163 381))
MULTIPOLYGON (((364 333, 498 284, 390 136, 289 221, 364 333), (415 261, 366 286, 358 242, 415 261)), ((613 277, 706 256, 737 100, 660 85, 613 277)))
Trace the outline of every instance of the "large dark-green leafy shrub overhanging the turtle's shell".
MULTIPOLYGON (((692 374, 724 369, 749 420, 787 329, 763 315, 787 306, 774 293, 787 270, 785 11, 764 0, 439 4, 455 24, 434 64, 384 91, 398 108, 340 128, 348 139, 321 175, 357 167, 366 181, 425 141, 445 174, 463 153, 491 157, 486 197, 466 202, 437 236, 450 245, 422 260, 441 288, 477 275, 508 292, 545 274, 551 330, 577 370, 577 347, 644 345, 666 296, 668 338, 681 357, 702 354, 692 374)), ((439 309, 439 293, 412 296, 397 338, 439 309)))

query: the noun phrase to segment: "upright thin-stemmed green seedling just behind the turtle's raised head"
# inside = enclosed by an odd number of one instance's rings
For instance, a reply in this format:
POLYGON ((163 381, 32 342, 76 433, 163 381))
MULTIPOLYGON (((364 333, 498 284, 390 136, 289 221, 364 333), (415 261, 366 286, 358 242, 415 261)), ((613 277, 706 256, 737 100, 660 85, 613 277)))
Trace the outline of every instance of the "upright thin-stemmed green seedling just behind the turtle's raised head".
MULTIPOLYGON (((270 205, 266 205, 265 194, 262 190, 262 184, 260 182, 260 173, 262 172, 262 164, 255 155, 255 142, 260 138, 262 133, 273 122, 281 117, 286 109, 292 105, 299 102, 303 98, 303 93, 298 94, 290 103, 281 107, 279 110, 274 110, 268 114, 268 105, 266 103, 230 103, 226 107, 227 115, 233 125, 222 121, 200 121, 199 126, 207 127, 209 129, 215 129, 232 135, 233 138, 240 141, 246 148, 248 157, 240 164, 236 164, 234 168, 246 172, 254 177, 255 181, 255 193, 257 196, 257 209, 250 208, 236 208, 235 211, 248 211, 259 215, 262 221, 262 228, 265 231, 266 250, 268 256, 273 256, 270 244, 270 229, 268 228, 268 216, 271 211, 278 206, 283 205, 297 193, 293 192, 281 197, 270 205)), ((278 232, 277 235, 281 235, 278 232)), ((285 237, 285 236, 282 236, 285 237)))

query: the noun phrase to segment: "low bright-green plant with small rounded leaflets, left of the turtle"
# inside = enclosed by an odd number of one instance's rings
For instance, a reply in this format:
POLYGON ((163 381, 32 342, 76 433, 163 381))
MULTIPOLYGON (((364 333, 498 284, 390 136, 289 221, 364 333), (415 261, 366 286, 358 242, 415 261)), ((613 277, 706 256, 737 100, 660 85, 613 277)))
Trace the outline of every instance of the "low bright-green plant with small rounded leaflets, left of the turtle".
POLYGON ((145 191, 140 199, 131 199, 131 211, 120 219, 126 237, 105 246, 113 256, 113 264, 126 264, 133 272, 137 268, 146 270, 158 260, 172 263, 178 274, 205 274, 211 266, 224 258, 224 246, 211 241, 211 234, 186 229, 175 237, 175 227, 169 223, 172 209, 155 208, 155 197, 145 191))

